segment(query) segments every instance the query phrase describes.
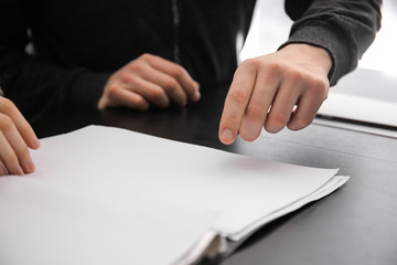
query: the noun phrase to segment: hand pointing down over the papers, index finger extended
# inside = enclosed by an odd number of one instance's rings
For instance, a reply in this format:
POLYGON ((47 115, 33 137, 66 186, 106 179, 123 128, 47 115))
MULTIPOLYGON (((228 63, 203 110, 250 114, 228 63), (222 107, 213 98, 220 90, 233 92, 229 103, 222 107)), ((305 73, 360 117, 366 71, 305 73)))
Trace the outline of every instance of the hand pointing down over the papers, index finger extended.
POLYGON ((278 132, 286 126, 298 130, 310 125, 328 96, 331 66, 325 50, 307 44, 289 44, 243 62, 226 96, 221 141, 229 145, 238 134, 253 141, 262 126, 278 132))

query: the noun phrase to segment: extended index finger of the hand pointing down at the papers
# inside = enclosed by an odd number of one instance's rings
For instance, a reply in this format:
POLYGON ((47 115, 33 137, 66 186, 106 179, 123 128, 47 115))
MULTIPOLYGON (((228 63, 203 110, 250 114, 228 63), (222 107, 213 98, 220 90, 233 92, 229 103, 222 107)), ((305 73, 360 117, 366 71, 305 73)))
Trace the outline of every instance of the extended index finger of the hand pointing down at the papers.
POLYGON ((221 117, 218 137, 225 145, 235 141, 255 86, 256 71, 242 66, 234 75, 221 117))

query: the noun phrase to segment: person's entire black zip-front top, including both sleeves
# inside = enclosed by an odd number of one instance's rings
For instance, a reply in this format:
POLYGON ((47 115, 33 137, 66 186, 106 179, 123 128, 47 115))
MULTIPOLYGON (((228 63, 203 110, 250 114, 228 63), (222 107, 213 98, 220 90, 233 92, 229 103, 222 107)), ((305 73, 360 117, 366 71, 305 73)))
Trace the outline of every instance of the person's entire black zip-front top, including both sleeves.
MULTIPOLYGON (((326 49, 335 84, 374 40, 380 2, 287 0, 296 20, 288 43, 326 49)), ((32 119, 96 108, 108 77, 143 53, 180 63, 204 86, 227 83, 237 67, 237 35, 247 35, 255 3, 0 0, 1 87, 32 119), (31 41, 33 55, 25 52, 31 41)))

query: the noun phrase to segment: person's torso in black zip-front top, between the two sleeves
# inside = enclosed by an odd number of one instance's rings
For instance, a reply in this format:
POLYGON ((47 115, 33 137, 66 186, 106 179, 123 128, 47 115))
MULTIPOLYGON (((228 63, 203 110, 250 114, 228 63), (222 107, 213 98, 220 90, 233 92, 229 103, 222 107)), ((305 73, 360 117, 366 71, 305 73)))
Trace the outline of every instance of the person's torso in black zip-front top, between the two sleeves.
POLYGON ((203 83, 237 66, 255 0, 30 0, 36 53, 64 67, 114 72, 143 53, 181 63, 203 83))

